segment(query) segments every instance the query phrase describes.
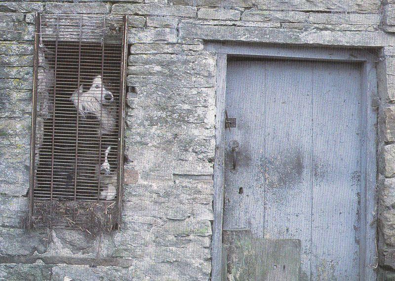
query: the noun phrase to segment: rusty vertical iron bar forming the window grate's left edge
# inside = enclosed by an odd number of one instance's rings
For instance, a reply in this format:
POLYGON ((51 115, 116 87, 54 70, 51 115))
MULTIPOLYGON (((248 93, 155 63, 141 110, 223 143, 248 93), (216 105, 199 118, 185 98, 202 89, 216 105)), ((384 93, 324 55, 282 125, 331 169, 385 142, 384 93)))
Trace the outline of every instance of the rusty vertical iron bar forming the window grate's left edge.
POLYGON ((32 95, 32 133, 30 136, 30 187, 29 187, 29 217, 27 228, 32 228, 32 216, 34 207, 34 185, 36 166, 36 119, 37 119, 37 85, 40 48, 41 15, 36 13, 36 28, 34 36, 34 62, 33 62, 33 95, 32 95))

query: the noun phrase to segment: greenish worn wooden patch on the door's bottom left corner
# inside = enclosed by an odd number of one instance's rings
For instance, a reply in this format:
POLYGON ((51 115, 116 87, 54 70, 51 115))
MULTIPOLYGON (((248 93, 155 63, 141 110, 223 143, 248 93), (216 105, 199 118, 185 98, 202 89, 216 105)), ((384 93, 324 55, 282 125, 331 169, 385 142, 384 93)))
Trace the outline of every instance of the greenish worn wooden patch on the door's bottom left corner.
POLYGON ((299 281, 298 239, 258 239, 249 230, 224 231, 222 281, 299 281))

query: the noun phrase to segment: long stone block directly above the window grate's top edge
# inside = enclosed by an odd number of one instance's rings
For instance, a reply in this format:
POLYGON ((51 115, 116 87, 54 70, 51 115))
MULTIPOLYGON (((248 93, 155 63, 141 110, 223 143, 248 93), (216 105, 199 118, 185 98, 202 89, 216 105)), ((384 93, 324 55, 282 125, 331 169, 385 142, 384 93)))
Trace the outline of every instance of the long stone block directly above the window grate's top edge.
POLYGON ((45 12, 56 14, 108 14, 110 6, 101 2, 91 3, 58 3, 45 4, 45 12))

